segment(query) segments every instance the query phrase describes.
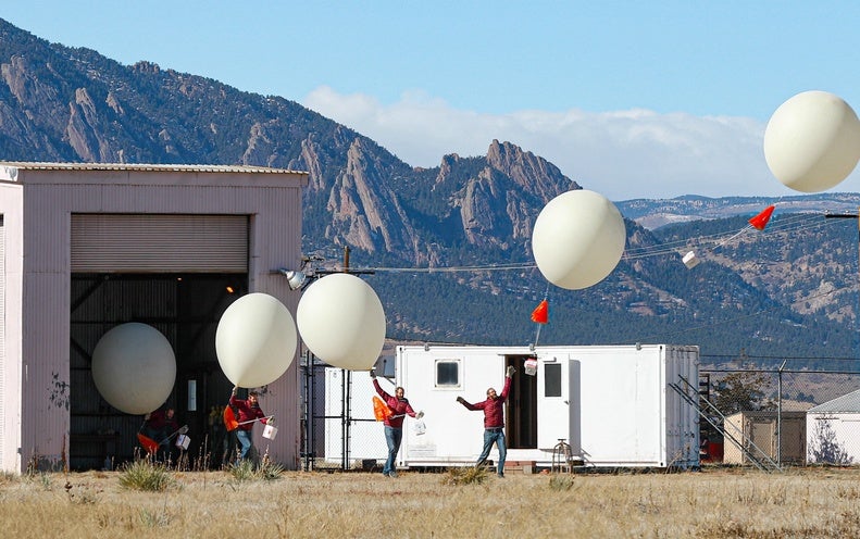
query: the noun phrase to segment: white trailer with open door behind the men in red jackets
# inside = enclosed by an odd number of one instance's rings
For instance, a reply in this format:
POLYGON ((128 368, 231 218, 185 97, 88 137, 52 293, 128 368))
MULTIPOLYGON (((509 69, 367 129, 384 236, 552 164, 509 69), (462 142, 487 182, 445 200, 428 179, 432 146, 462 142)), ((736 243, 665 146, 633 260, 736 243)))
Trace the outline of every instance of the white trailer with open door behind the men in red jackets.
POLYGON ((484 416, 457 397, 501 392, 508 365, 516 368, 504 413, 509 463, 549 467, 563 440, 585 466, 699 465, 698 413, 670 387, 698 399, 698 347, 401 346, 395 362, 395 384, 426 413, 423 434, 404 426, 400 467, 473 464, 484 416))

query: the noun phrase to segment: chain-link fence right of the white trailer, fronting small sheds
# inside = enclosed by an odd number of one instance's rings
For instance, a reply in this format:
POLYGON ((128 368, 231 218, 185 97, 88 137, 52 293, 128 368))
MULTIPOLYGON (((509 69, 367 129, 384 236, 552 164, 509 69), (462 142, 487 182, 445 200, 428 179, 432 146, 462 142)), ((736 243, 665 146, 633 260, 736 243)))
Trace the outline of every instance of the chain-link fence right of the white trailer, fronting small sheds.
POLYGON ((699 371, 702 463, 860 463, 860 373, 786 363, 699 371))

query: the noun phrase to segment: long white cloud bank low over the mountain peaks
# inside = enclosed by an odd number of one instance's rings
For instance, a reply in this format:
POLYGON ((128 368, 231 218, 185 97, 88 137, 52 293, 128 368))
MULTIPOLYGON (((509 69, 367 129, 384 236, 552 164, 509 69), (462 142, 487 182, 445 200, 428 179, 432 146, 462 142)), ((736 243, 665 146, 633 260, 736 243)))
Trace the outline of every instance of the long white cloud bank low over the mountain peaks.
MULTIPOLYGON (((413 166, 443 155, 485 155, 493 139, 550 161, 587 189, 611 200, 801 195, 780 184, 764 161, 764 125, 747 117, 658 114, 648 110, 590 113, 456 110, 414 91, 385 105, 373 97, 320 87, 303 102, 413 166)), ((857 190, 855 172, 837 187, 857 190)))

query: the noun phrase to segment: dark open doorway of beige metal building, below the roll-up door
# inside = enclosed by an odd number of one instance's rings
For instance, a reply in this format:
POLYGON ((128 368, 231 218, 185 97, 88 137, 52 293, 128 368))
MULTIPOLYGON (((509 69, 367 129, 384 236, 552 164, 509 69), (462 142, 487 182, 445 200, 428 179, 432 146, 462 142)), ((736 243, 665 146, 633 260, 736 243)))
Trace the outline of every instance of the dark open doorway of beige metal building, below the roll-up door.
MULTIPOLYGON (((99 339, 127 322, 148 324, 170 341, 176 383, 166 404, 187 425, 189 459, 220 465, 220 410, 233 385, 215 354, 221 315, 247 293, 247 274, 73 274, 71 283, 70 467, 115 467, 139 451, 142 416, 111 406, 98 392, 91 356, 99 339)), ((224 438, 223 435, 221 438, 224 438)), ((174 456, 179 451, 173 448, 174 456)), ((199 462, 197 463, 200 464, 199 462)))

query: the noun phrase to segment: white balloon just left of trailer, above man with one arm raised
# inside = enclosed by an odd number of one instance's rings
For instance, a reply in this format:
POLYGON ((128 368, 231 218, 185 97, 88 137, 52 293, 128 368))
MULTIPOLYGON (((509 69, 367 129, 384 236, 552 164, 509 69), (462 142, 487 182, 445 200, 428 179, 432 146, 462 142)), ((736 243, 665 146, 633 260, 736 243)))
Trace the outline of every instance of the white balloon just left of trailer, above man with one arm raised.
POLYGON ((329 365, 369 371, 385 344, 385 312, 376 292, 347 273, 326 275, 302 293, 296 311, 299 334, 329 365))

